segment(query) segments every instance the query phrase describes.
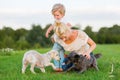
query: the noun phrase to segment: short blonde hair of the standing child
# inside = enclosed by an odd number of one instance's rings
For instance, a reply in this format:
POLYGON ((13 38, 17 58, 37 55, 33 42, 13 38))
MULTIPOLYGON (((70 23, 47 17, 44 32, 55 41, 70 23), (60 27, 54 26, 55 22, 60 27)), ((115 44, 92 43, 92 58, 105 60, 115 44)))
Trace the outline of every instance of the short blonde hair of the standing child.
POLYGON ((60 3, 55 4, 55 5, 53 6, 51 12, 52 12, 52 14, 54 14, 54 12, 56 12, 56 11, 59 11, 60 14, 65 15, 65 7, 64 7, 64 5, 62 5, 62 4, 60 4, 60 3))

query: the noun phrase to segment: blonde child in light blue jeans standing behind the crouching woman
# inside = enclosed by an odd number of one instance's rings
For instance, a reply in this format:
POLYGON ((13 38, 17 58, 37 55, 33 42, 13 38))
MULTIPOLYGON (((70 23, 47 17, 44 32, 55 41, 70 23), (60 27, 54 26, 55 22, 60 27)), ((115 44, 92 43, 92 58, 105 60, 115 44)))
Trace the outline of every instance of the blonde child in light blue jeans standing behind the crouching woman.
MULTIPOLYGON (((62 34, 59 34, 59 31, 64 31, 67 29, 70 29, 70 24, 69 23, 63 23, 62 19, 65 16, 65 7, 62 4, 55 4, 52 8, 52 15, 54 16, 55 22, 53 25, 51 25, 47 31, 46 31, 46 37, 48 37, 49 33, 54 30, 54 35, 53 36, 60 36, 62 34)), ((56 66, 56 71, 62 71, 62 63, 64 60, 64 49, 63 47, 58 44, 54 43, 53 46, 54 50, 57 50, 59 52, 59 56, 61 58, 60 62, 54 60, 54 64, 56 66)))

